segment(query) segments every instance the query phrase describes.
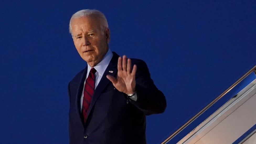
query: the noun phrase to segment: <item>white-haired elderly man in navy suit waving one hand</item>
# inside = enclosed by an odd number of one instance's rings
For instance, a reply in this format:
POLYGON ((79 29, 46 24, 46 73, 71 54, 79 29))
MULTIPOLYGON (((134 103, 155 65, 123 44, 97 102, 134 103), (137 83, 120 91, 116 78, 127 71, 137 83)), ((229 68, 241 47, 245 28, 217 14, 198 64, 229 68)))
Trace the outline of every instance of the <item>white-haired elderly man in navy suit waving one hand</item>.
POLYGON ((146 63, 110 51, 108 23, 98 10, 76 12, 69 26, 87 62, 68 84, 70 143, 146 143, 146 115, 166 108, 146 63))

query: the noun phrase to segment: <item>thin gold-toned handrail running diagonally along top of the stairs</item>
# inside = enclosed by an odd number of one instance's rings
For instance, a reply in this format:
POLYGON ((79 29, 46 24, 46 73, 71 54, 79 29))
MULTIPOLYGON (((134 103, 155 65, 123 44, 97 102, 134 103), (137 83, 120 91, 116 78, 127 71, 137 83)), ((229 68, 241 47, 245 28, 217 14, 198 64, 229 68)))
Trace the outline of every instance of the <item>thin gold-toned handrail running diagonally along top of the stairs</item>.
POLYGON ((255 69, 256 69, 256 66, 254 66, 250 71, 248 71, 241 78, 239 78, 234 84, 232 84, 232 86, 230 86, 227 90, 225 90, 221 95, 219 95, 216 99, 214 99, 210 104, 208 104, 204 109, 202 109, 198 114, 196 114, 193 118, 191 118, 188 122, 186 122, 182 127, 180 127, 177 131, 175 131, 171 136, 169 136, 161 144, 165 144, 165 143, 169 142, 174 136, 176 136, 180 131, 185 129, 189 124, 191 124, 191 122, 193 122, 202 113, 204 113, 207 109, 209 109, 213 104, 215 104, 219 99, 221 99, 225 94, 227 94, 231 89, 233 89, 238 83, 240 83, 244 78, 246 78, 255 69))

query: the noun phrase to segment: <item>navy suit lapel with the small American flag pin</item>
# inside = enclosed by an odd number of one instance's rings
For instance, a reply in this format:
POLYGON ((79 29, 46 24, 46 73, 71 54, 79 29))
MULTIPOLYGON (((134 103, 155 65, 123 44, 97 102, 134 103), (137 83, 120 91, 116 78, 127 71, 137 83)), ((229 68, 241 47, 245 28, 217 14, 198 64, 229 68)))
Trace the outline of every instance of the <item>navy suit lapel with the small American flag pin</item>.
POLYGON ((115 76, 117 72, 117 62, 118 62, 119 55, 113 52, 113 57, 109 62, 108 67, 106 68, 102 78, 100 79, 100 82, 96 89, 94 90, 94 94, 92 97, 92 101, 90 103, 89 109, 88 109, 88 115, 90 114, 90 111, 92 110, 92 107, 94 106, 95 102, 99 98, 102 91, 106 88, 106 86, 110 83, 109 79, 106 77, 107 74, 110 74, 112 76, 115 76), (113 71, 113 72, 112 72, 113 71))

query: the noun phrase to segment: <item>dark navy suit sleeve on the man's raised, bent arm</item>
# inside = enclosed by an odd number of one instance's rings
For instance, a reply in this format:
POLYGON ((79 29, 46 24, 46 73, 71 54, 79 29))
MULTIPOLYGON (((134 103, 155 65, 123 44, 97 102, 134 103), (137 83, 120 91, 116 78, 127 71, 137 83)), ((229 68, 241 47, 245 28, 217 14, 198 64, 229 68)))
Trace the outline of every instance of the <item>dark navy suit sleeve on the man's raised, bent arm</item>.
POLYGON ((140 62, 136 63, 136 65, 137 72, 135 76, 135 88, 137 100, 129 100, 129 102, 134 104, 146 115, 163 113, 166 109, 166 99, 164 94, 155 86, 150 77, 146 63, 141 60, 140 62))

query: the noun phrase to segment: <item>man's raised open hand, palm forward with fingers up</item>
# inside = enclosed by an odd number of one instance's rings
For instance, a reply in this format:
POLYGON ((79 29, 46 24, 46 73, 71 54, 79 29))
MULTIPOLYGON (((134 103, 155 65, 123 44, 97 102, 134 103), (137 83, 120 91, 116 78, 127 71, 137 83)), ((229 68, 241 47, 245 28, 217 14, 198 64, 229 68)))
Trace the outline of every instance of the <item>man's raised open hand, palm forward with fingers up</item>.
POLYGON ((107 75, 107 78, 113 83, 114 87, 120 92, 126 94, 132 94, 135 92, 135 74, 137 66, 134 65, 131 70, 131 59, 126 58, 124 55, 123 58, 118 58, 117 63, 117 78, 107 75))

